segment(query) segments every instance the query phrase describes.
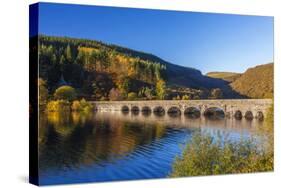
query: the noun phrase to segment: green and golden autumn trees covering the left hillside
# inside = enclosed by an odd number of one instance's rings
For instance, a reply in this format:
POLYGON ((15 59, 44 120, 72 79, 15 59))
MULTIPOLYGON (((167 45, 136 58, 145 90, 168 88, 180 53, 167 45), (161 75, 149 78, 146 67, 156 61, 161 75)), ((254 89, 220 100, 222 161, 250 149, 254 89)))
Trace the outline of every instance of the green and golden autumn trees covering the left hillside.
POLYGON ((39 76, 51 97, 68 85, 91 100, 164 99, 165 69, 98 41, 39 36, 39 76))

